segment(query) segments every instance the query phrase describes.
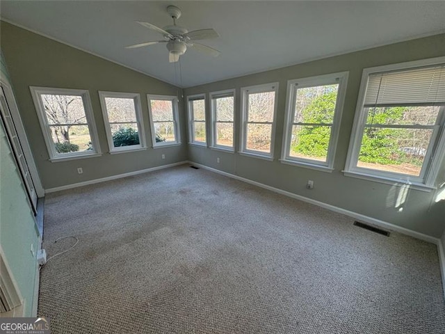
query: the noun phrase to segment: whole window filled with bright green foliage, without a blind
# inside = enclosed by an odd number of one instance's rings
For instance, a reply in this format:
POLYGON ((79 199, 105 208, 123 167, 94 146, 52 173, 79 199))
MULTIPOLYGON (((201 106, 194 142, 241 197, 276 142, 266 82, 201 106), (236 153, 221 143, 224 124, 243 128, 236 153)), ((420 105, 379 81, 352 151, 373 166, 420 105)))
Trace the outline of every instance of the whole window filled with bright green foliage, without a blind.
POLYGON ((282 162, 332 170, 347 77, 288 81, 282 162))

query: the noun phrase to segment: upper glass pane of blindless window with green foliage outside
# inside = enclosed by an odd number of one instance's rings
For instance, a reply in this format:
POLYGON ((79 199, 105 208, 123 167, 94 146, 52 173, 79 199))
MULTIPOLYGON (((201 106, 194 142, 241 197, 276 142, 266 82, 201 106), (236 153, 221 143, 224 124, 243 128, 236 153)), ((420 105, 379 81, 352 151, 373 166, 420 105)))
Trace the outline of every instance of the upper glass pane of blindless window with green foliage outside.
POLYGON ((293 122, 332 124, 338 90, 338 84, 299 88, 293 122))

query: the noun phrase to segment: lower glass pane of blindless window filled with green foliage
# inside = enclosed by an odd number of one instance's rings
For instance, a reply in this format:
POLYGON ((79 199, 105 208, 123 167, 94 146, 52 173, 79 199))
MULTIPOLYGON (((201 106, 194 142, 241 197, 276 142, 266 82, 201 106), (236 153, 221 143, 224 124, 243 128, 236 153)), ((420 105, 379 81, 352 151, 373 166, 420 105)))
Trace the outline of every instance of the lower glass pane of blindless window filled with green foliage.
POLYGON ((327 148, 331 127, 293 125, 291 137, 291 157, 327 161, 327 148))

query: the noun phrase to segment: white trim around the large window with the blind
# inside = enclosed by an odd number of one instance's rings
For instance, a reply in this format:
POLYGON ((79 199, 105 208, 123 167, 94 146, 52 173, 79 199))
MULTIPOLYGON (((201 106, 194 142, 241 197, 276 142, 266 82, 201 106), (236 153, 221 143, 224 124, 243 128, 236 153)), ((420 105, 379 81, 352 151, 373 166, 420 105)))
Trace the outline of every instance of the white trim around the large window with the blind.
MULTIPOLYGON (((362 144, 362 134, 364 132, 366 113, 364 112, 364 97, 366 94, 366 88, 368 84, 369 75, 375 72, 389 72, 397 70, 407 70, 415 67, 425 67, 429 65, 439 65, 445 63, 445 56, 437 58, 423 59, 421 61, 410 61, 407 63, 398 63, 391 65, 383 65, 377 67, 365 68, 362 73, 362 81, 360 82, 359 96, 357 99, 357 107, 355 109, 355 118, 353 123, 353 132, 351 134, 348 156, 346 157, 346 166, 343 170, 343 174, 350 177, 362 178, 364 180, 372 180, 380 183, 387 184, 408 184, 413 189, 431 191, 436 189, 435 182, 437 174, 439 173, 439 166, 445 157, 445 125, 442 120, 442 133, 439 133, 439 139, 437 146, 434 149, 430 168, 426 170, 423 177, 413 177, 410 175, 404 175, 400 173, 383 172, 379 170, 373 170, 370 168, 357 167, 358 154, 360 146, 362 144)), ((442 107, 443 108, 443 107, 442 107)), ((431 142, 434 138, 431 138, 431 142)), ((426 155, 425 161, 428 158, 426 155)), ((424 169, 424 168, 422 168, 424 169)), ((422 175, 421 175, 422 176, 422 175)))

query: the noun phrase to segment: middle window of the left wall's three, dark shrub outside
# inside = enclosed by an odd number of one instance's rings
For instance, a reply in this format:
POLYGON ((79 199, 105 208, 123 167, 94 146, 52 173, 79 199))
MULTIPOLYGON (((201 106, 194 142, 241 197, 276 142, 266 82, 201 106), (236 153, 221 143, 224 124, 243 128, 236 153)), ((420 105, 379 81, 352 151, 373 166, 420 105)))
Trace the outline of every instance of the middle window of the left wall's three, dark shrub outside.
POLYGON ((139 94, 99 92, 99 98, 110 153, 144 149, 139 94))

